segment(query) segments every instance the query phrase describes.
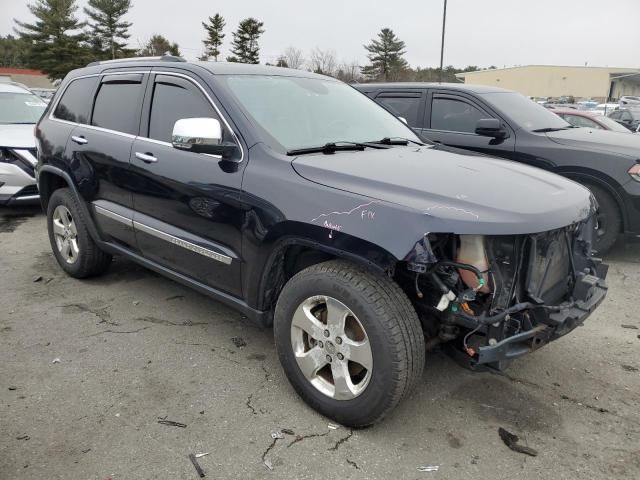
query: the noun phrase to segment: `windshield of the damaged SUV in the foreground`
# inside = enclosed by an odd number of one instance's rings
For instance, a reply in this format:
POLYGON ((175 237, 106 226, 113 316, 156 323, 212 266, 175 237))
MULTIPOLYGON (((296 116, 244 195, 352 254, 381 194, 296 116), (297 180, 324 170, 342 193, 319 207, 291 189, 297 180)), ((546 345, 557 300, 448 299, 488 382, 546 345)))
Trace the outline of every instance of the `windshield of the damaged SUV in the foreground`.
POLYGON ((335 80, 228 75, 224 81, 245 113, 287 151, 385 137, 421 141, 373 100, 335 80))

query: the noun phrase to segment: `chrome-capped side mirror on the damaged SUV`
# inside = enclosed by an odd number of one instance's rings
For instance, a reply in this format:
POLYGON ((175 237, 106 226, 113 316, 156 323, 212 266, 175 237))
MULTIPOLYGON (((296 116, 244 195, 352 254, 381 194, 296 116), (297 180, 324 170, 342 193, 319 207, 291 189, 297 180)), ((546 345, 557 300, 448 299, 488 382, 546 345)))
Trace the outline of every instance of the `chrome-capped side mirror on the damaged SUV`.
POLYGON ((182 118, 173 126, 171 145, 179 150, 220 155, 229 159, 237 151, 235 143, 222 141, 222 126, 215 118, 182 118))

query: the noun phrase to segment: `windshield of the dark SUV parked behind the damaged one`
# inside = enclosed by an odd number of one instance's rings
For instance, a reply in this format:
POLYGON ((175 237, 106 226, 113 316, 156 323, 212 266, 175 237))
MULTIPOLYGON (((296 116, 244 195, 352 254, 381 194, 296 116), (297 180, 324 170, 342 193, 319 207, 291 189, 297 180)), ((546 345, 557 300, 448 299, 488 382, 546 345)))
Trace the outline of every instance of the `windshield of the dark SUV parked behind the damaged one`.
POLYGON ((515 92, 492 92, 481 95, 490 105, 509 117, 524 130, 543 128, 569 128, 569 125, 553 111, 515 92))

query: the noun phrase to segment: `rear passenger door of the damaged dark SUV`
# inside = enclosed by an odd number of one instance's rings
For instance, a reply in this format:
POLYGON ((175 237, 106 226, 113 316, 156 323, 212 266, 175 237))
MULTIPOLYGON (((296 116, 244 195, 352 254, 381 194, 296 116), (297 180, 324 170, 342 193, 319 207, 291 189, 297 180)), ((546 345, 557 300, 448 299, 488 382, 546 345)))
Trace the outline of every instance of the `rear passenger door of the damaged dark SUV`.
POLYGON ((69 149, 87 182, 99 228, 110 241, 136 249, 129 160, 140 128, 148 73, 110 72, 100 77, 88 125, 71 134, 69 149))

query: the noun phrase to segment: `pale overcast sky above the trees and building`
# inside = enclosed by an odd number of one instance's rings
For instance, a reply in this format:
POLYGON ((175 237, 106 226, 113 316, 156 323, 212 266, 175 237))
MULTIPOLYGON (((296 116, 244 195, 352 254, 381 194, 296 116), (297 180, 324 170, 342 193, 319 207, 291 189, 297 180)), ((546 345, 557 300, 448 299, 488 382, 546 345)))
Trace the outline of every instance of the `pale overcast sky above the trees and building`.
MULTIPOLYGON (((0 35, 13 18, 32 19, 27 3, 0 0, 0 35)), ((406 43, 413 67, 438 66, 443 0, 133 0, 127 20, 137 48, 159 33, 177 42, 187 59, 202 54, 201 21, 226 20, 223 56, 232 31, 246 17, 264 22, 261 62, 275 62, 288 46, 305 57, 333 50, 339 62, 366 63, 363 44, 381 28, 406 43)), ((86 0, 77 0, 82 7, 86 0)), ((81 8, 80 17, 84 18, 81 8)), ((445 65, 497 67, 545 64, 640 67, 640 0, 449 0, 445 65)))

